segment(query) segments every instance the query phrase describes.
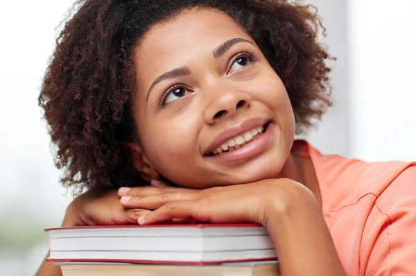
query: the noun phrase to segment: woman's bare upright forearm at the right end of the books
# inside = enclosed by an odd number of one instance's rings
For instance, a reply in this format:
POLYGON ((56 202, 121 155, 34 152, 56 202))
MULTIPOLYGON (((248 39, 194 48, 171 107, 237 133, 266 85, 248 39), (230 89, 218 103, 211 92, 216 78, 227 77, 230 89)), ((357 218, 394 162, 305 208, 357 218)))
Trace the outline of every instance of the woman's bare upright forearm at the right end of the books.
POLYGON ((279 268, 286 275, 345 275, 322 211, 311 192, 293 189, 292 199, 272 200, 266 227, 279 256, 279 268))

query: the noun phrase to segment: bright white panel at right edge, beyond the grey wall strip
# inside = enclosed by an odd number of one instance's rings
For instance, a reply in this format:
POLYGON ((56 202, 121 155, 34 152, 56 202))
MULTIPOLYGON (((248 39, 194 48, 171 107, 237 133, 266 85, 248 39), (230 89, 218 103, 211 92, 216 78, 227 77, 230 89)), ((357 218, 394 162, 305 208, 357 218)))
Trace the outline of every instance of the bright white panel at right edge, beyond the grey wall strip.
POLYGON ((352 155, 416 159, 416 1, 350 0, 352 155))

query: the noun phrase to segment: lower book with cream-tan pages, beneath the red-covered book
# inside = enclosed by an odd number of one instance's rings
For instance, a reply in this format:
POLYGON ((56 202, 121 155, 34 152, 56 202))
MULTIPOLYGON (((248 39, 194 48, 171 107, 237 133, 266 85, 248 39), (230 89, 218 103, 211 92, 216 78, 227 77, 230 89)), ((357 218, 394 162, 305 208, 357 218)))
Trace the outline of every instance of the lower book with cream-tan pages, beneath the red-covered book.
POLYGON ((62 276, 279 276, 277 261, 226 263, 209 266, 172 266, 128 263, 55 263, 62 276))

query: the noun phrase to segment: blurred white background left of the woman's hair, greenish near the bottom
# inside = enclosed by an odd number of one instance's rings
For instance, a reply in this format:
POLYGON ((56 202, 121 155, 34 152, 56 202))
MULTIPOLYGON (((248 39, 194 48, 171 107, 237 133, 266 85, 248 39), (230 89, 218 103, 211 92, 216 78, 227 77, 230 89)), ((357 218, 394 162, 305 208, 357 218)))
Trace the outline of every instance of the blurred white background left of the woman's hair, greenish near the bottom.
POLYGON ((70 200, 58 184, 37 96, 55 26, 72 2, 1 2, 0 275, 35 273, 48 248, 43 228, 60 225, 70 200))

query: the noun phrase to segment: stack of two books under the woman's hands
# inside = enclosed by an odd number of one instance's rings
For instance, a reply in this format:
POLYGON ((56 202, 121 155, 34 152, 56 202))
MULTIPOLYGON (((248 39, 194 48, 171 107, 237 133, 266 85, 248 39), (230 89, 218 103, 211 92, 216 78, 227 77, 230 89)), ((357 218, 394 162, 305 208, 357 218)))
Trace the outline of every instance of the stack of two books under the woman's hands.
POLYGON ((279 275, 275 247, 256 224, 60 227, 49 260, 64 276, 279 275))

